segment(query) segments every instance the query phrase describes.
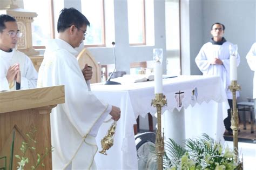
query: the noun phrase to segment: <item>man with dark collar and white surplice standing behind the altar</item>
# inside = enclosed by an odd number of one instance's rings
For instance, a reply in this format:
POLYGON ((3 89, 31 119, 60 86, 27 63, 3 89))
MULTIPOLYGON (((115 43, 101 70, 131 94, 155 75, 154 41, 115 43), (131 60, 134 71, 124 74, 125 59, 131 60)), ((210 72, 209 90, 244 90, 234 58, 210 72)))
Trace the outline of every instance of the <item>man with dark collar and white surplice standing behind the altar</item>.
MULTIPOLYGON (((197 57, 196 64, 204 75, 220 76, 226 90, 228 104, 232 105, 232 93, 228 90, 230 85, 230 42, 223 37, 225 26, 221 23, 212 24, 210 42, 204 44, 197 57)), ((237 66, 240 63, 240 56, 237 55, 237 66)), ((238 96, 238 95, 237 95, 238 96)), ((227 118, 224 125, 228 134, 233 134, 231 129, 231 110, 227 110, 227 118)))

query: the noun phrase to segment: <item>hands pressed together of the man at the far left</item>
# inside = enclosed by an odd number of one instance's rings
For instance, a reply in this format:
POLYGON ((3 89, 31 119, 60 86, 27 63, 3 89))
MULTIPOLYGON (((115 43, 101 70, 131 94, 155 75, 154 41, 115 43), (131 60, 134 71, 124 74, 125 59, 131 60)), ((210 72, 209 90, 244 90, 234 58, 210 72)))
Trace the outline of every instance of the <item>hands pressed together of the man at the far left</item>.
POLYGON ((8 80, 8 83, 11 83, 14 80, 17 83, 21 83, 21 71, 19 70, 19 64, 14 64, 9 67, 6 78, 8 80))

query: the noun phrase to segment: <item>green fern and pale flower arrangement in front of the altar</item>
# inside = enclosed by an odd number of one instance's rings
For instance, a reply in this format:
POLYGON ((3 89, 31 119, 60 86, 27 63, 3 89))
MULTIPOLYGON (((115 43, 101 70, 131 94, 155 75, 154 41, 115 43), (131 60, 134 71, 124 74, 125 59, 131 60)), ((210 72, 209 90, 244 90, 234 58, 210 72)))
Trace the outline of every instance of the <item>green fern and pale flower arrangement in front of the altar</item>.
POLYGON ((165 143, 166 151, 163 157, 165 169, 242 169, 238 155, 207 134, 196 139, 186 139, 185 147, 181 147, 172 139, 169 140, 165 143))

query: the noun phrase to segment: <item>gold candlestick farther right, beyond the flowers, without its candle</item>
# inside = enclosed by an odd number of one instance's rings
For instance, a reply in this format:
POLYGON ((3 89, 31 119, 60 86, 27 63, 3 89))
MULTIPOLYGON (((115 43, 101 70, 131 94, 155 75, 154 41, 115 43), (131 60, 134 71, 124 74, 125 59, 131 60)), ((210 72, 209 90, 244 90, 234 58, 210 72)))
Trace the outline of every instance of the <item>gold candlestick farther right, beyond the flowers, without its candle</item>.
POLYGON ((228 86, 233 96, 233 108, 231 108, 231 128, 233 130, 233 144, 234 144, 234 152, 235 152, 235 161, 238 158, 238 109, 237 109, 237 91, 241 90, 240 85, 237 84, 237 81, 231 81, 231 85, 228 86))

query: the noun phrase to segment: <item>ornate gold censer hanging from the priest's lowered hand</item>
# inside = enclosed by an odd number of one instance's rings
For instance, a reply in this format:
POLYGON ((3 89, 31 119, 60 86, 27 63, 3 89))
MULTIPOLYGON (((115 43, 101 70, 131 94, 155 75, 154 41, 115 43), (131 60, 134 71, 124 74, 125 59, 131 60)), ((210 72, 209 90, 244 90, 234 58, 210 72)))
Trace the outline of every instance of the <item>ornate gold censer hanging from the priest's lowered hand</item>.
POLYGON ((117 121, 114 121, 114 123, 112 123, 112 125, 110 126, 109 130, 107 130, 107 134, 101 140, 102 151, 99 151, 99 153, 107 155, 106 150, 114 145, 114 133, 116 132, 116 126, 117 121))

